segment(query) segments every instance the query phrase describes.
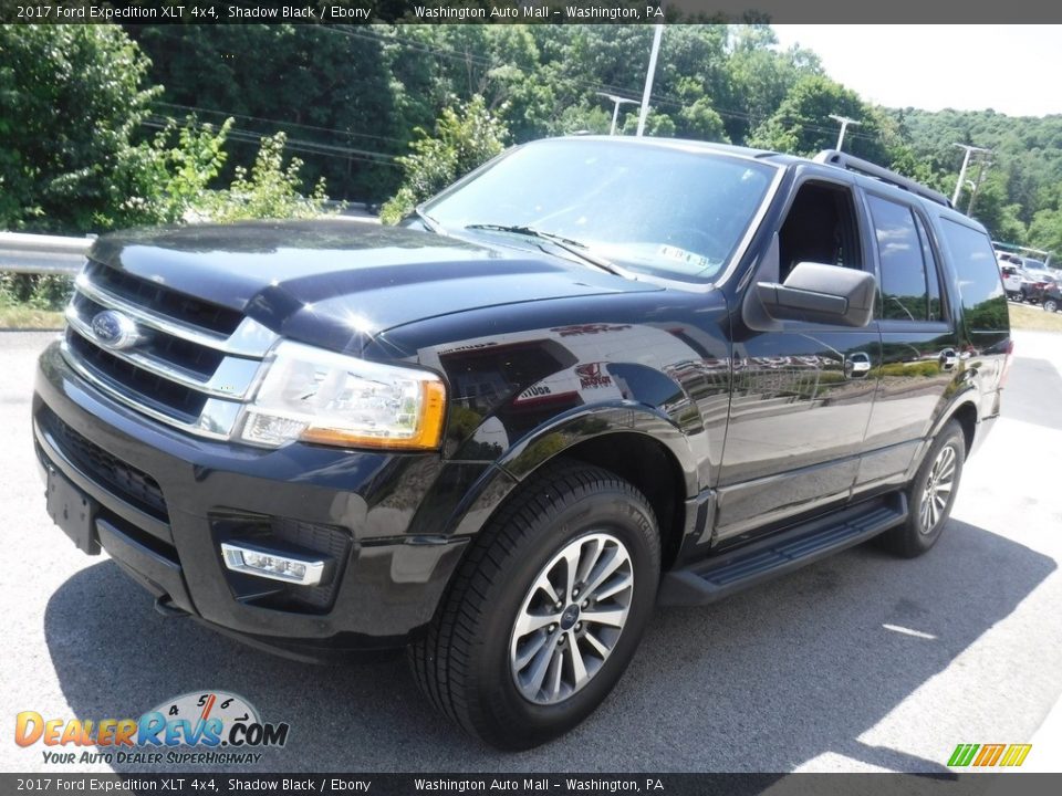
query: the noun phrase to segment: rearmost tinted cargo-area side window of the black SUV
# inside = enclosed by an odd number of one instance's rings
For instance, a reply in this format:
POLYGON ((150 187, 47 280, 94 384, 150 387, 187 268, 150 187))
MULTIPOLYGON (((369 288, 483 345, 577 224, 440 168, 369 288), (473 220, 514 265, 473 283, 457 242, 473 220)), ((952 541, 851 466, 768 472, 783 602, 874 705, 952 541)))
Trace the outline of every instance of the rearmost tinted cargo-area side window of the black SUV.
POLYGON ((967 326, 974 332, 1010 328, 1007 296, 988 235, 949 219, 940 219, 940 231, 955 262, 967 326))

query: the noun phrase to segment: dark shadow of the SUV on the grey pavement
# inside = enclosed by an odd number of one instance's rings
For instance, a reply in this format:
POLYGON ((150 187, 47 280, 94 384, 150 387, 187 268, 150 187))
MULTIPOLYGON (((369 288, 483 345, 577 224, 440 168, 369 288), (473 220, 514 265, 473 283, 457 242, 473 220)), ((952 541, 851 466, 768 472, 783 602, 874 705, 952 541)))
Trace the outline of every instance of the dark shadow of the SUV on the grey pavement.
POLYGON ((186 692, 225 690, 263 721, 291 725, 284 748, 232 771, 788 772, 837 752, 941 772, 943 761, 857 739, 1054 568, 952 520, 915 561, 864 545, 709 608, 659 609, 606 703, 564 739, 520 754, 486 747, 437 715, 400 657, 348 667, 275 658, 189 619, 163 618, 112 562, 70 578, 44 621, 79 718, 137 718, 186 692))

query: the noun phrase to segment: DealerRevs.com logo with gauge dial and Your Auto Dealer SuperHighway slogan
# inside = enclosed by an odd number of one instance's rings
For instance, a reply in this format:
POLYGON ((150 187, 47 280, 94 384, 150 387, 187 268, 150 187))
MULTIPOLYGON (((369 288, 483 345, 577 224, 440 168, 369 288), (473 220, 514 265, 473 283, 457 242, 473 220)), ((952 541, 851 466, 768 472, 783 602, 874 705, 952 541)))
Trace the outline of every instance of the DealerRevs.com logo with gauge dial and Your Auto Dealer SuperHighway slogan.
POLYGON ((43 744, 50 764, 253 764, 262 757, 256 750, 283 746, 289 730, 284 722, 263 722, 242 696, 199 691, 167 700, 139 719, 45 719, 22 711, 14 742, 43 744), (80 748, 86 746, 94 748, 80 748))

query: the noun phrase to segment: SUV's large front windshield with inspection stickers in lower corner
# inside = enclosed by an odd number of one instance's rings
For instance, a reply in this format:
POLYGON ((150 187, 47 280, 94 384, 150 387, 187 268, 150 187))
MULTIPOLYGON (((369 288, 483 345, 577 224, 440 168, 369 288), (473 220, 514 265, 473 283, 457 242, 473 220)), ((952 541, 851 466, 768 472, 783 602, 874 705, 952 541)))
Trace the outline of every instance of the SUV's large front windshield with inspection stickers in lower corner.
POLYGON ((712 151, 546 140, 512 150, 424 211, 449 232, 479 224, 530 228, 629 271, 711 282, 774 174, 773 166, 712 151))

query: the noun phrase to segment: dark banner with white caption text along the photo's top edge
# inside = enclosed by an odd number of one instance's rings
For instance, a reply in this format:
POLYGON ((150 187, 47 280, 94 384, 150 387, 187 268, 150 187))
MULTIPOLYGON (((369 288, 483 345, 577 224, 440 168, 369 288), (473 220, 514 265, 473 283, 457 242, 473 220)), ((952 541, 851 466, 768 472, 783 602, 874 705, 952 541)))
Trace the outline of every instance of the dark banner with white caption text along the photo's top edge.
MULTIPOLYGON (((2 0, 0 22, 149 24, 939 24, 1062 22, 1062 3, 1011 0, 2 0)), ((1062 36, 1062 31, 1060 31, 1062 36)), ((917 53, 897 51, 896 57, 917 53)))

